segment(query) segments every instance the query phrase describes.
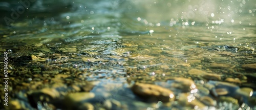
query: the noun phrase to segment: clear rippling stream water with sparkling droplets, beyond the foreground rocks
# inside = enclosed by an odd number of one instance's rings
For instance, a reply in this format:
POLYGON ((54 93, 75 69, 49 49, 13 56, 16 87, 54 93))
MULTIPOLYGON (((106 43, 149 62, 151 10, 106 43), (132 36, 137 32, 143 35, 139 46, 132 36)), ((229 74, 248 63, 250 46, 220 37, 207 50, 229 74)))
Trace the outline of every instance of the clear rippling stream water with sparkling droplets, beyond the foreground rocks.
MULTIPOLYGON (((255 70, 245 71, 241 66, 256 63, 256 1, 76 0, 69 4, 69 10, 55 12, 58 14, 43 18, 40 12, 28 14, 15 20, 11 27, 1 26, 1 52, 12 51, 10 57, 14 59, 38 53, 67 56, 67 63, 50 62, 50 66, 74 67, 81 72, 88 69, 84 75, 89 77, 83 80, 100 81, 92 92, 101 94, 96 91, 100 89, 102 93, 118 94, 114 99, 136 109, 152 105, 134 104, 141 101, 126 90, 127 78, 132 83, 141 77, 146 83, 166 82, 168 77, 187 77, 190 69, 224 78, 235 78, 234 73, 255 75, 255 70), (30 49, 41 45, 52 50, 30 49), (89 60, 105 61, 105 65, 84 64, 89 60), (236 67, 212 69, 212 63, 236 67), (156 81, 151 80, 153 76, 156 81), (116 87, 108 90, 106 83, 116 87)), ((47 55, 44 57, 49 58, 47 55)))

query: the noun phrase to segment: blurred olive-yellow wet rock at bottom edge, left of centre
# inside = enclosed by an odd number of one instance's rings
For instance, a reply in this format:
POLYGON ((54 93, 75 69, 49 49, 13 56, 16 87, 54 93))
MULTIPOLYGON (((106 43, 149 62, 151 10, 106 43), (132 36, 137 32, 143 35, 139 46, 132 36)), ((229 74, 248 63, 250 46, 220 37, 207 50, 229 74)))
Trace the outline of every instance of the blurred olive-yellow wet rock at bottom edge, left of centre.
POLYGON ((94 93, 71 93, 65 96, 64 103, 67 109, 94 109, 94 106, 88 103, 88 100, 94 97, 94 93))

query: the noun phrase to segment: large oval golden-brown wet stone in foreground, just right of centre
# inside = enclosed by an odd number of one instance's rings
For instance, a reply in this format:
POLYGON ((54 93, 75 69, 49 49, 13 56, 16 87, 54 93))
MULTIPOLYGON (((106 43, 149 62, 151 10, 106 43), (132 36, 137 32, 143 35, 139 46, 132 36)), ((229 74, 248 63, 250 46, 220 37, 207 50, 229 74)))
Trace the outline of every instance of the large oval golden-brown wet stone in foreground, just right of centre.
POLYGON ((175 98, 172 91, 159 85, 135 83, 131 89, 134 94, 146 98, 148 101, 169 102, 175 98))

